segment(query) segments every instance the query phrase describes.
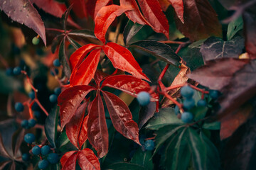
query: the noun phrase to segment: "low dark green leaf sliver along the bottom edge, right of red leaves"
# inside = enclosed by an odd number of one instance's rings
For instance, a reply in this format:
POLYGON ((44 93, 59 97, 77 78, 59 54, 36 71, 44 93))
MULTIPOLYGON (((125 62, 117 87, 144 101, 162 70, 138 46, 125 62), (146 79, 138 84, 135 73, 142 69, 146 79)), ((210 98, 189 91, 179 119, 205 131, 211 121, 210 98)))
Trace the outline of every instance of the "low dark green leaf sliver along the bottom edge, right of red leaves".
MULTIPOLYGON (((117 162, 114 164, 110 164, 109 166, 107 166, 107 169, 112 169, 112 170, 144 170, 143 166, 140 166, 138 164, 132 164, 132 163, 128 163, 128 162, 117 162)), ((145 169, 146 170, 146 169, 145 169)))

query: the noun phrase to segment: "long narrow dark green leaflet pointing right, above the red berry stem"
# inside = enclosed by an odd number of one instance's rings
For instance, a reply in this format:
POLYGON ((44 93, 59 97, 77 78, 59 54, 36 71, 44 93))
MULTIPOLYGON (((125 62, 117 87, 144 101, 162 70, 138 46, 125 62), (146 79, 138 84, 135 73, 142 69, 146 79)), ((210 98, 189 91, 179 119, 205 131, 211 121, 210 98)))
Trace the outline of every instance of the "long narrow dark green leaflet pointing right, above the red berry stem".
POLYGON ((173 64, 176 67, 178 67, 181 64, 180 57, 176 55, 174 50, 172 50, 169 45, 166 45, 164 43, 144 40, 133 43, 131 47, 137 47, 140 50, 149 52, 151 55, 158 57, 160 60, 163 60, 164 62, 173 64))

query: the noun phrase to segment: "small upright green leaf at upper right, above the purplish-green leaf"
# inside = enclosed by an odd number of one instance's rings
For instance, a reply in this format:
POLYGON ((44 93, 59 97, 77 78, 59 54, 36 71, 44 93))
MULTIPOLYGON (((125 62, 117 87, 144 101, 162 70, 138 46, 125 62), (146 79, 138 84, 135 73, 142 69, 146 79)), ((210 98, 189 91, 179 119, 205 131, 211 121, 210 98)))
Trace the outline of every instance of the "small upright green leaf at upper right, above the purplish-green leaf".
POLYGON ((243 21, 242 21, 242 16, 240 16, 228 24, 227 39, 231 40, 233 36, 236 33, 238 33, 239 30, 242 30, 242 28, 243 28, 243 21))

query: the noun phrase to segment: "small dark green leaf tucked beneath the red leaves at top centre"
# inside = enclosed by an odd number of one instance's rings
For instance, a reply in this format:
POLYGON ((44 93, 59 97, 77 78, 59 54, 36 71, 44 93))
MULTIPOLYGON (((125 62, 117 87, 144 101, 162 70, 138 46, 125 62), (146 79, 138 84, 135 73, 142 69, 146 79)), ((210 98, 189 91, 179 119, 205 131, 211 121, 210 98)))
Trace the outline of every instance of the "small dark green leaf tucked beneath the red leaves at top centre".
POLYGON ((128 21, 124 28, 124 44, 129 45, 130 40, 141 30, 143 25, 128 21))

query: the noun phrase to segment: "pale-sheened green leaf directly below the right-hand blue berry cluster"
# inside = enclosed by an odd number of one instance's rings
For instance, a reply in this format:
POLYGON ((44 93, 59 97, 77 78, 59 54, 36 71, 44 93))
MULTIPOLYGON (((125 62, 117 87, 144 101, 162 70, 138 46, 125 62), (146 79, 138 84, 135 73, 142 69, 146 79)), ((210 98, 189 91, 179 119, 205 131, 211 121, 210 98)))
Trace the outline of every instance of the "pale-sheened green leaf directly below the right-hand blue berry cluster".
POLYGON ((155 113, 154 117, 149 120, 146 128, 151 130, 158 130, 165 125, 184 125, 181 119, 177 118, 174 113, 174 108, 161 108, 159 113, 155 113))

